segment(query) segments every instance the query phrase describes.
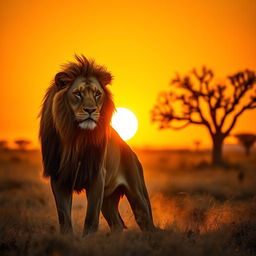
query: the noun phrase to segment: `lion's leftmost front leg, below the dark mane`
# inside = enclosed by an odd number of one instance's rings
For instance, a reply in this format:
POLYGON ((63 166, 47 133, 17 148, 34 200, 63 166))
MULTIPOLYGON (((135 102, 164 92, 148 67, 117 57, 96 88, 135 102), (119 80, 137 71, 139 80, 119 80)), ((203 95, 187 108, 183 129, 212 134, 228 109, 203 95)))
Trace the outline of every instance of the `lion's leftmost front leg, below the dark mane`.
POLYGON ((51 179, 52 192, 55 198, 60 232, 62 234, 72 234, 71 208, 72 208, 72 190, 64 188, 60 183, 51 179))

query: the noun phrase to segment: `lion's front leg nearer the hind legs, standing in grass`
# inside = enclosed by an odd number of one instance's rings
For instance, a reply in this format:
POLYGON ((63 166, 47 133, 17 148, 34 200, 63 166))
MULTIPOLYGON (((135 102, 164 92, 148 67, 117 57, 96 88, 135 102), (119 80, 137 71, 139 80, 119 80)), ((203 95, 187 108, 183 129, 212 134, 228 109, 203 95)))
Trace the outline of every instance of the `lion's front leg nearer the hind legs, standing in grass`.
POLYGON ((98 230, 99 216, 104 194, 105 175, 106 171, 105 169, 102 169, 92 178, 90 186, 86 190, 88 203, 83 236, 94 233, 98 230))

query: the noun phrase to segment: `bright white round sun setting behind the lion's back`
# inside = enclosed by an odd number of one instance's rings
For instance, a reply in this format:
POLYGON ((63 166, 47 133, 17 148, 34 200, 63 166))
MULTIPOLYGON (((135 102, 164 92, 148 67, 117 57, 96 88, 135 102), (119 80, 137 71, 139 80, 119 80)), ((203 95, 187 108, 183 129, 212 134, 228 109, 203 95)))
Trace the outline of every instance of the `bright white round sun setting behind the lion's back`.
POLYGON ((136 116, 127 108, 116 108, 111 124, 123 140, 131 139, 138 129, 136 116))

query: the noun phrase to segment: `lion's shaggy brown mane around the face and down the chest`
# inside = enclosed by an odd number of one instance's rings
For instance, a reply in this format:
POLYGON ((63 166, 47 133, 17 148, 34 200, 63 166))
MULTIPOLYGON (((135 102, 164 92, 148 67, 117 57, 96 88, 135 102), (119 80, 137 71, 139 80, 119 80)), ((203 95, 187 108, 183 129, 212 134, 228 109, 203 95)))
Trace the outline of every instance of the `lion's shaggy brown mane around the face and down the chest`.
POLYGON ((90 184, 90 178, 104 161, 115 107, 106 87, 112 81, 111 74, 93 60, 87 60, 84 56, 75 57, 76 62, 63 65, 46 92, 40 113, 39 137, 44 176, 58 179, 63 186, 73 186, 79 192, 90 184), (67 101, 68 89, 80 76, 96 77, 105 91, 100 120, 93 131, 81 130, 75 124, 67 101))

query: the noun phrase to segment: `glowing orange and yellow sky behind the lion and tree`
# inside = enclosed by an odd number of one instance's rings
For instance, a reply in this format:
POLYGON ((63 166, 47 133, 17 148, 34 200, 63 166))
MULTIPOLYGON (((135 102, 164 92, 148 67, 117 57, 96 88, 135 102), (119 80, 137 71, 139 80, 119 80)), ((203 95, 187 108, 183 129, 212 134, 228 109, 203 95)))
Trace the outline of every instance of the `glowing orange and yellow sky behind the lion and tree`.
MULTIPOLYGON (((223 77, 256 69, 255 0, 36 1, 0 3, 0 139, 37 142, 37 113, 60 64, 83 53, 115 76, 116 106, 131 109, 139 130, 129 144, 209 145, 204 128, 158 131, 149 111, 176 71, 203 64, 223 77)), ((256 111, 234 131, 256 132, 256 111)))

